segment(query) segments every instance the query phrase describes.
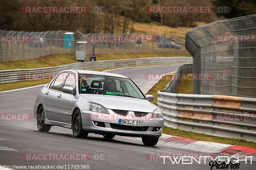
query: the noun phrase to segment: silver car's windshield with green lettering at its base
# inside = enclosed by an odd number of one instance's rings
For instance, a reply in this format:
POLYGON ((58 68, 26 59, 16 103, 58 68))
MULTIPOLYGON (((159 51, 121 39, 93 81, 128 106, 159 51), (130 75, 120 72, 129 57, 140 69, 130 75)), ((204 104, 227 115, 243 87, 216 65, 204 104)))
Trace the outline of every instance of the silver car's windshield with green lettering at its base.
POLYGON ((104 94, 145 99, 139 88, 129 78, 80 74, 79 85, 80 93, 104 94))

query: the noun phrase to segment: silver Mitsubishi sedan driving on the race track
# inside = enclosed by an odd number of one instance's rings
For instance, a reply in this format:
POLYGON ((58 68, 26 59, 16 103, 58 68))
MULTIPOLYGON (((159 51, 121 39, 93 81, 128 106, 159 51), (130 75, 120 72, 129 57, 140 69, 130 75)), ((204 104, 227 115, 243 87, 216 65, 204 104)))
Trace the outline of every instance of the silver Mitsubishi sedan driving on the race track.
POLYGON ((72 129, 75 137, 88 133, 114 138, 141 137, 154 146, 162 135, 161 110, 132 79, 113 73, 64 70, 36 95, 34 117, 39 131, 51 126, 72 129))

